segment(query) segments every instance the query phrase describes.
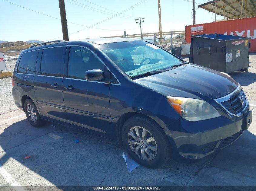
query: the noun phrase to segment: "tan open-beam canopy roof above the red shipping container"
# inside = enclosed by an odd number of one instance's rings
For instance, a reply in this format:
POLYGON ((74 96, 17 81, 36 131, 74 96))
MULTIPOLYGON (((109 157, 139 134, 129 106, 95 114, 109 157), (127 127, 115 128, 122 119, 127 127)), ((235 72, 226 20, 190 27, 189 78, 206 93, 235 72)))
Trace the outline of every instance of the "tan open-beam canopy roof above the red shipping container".
MULTIPOLYGON (((256 0, 216 0, 216 14, 231 19, 256 16, 256 0), (243 2, 243 5, 242 5, 243 2)), ((215 11, 215 0, 198 5, 198 8, 203 8, 209 12, 215 11)))

